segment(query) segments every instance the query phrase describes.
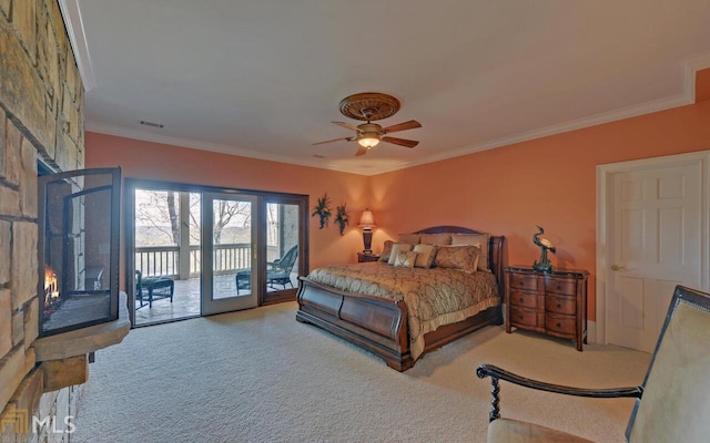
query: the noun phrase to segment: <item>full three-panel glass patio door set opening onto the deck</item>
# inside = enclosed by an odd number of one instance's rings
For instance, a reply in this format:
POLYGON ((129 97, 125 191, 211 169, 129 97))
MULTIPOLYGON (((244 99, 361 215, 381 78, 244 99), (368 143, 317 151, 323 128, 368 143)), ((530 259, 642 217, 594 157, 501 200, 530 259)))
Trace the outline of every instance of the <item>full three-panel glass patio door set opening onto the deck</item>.
POLYGON ((126 179, 133 326, 295 299, 308 270, 306 195, 126 179))

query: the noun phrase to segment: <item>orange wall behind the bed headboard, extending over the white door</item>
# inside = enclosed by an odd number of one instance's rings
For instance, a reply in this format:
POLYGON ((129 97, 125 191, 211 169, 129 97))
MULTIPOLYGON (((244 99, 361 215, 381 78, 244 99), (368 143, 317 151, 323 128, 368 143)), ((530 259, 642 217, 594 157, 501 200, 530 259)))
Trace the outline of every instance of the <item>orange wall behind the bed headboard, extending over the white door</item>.
POLYGON ((555 266, 591 274, 595 320, 596 166, 702 150, 710 101, 373 176, 371 208, 381 238, 442 224, 504 235, 510 265, 539 257, 540 225, 555 266))

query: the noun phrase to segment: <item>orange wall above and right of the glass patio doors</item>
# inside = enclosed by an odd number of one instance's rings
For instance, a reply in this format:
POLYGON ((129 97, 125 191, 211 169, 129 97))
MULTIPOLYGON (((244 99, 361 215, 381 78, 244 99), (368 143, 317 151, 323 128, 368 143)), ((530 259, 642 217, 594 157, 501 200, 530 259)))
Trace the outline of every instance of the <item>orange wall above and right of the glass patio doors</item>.
POLYGON ((318 229, 317 218, 311 218, 311 268, 356 261, 356 253, 363 249, 362 233, 355 225, 369 203, 368 177, 91 132, 85 137, 87 167, 121 166, 124 178, 306 194, 310 210, 327 192, 333 213, 345 202, 354 222, 341 237, 333 219, 327 228, 318 229))

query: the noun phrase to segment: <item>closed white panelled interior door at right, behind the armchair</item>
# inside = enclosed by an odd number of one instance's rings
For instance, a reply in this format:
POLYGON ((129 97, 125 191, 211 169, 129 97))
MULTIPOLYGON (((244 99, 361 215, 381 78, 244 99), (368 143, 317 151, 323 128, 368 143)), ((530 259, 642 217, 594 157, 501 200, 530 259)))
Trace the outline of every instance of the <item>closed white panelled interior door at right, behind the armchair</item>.
POLYGON ((689 161, 611 175, 607 342, 652 352, 676 285, 701 288, 702 174, 689 161))

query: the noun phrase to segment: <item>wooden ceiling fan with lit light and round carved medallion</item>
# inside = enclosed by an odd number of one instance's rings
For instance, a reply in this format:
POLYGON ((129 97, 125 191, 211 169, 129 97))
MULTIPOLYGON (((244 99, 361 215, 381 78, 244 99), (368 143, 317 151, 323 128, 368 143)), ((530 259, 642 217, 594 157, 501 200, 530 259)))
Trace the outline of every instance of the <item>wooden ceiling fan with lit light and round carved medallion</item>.
POLYGON ((326 140, 325 142, 314 143, 314 145, 322 145, 324 143, 347 141, 357 142, 359 144, 355 155, 365 155, 367 151, 377 146, 379 142, 392 143, 395 145, 414 147, 419 142, 414 140, 390 137, 387 134, 397 132, 414 130, 422 127, 422 124, 416 120, 399 123, 396 125, 382 127, 373 121, 382 120, 394 115, 399 111, 399 101, 392 95, 382 94, 378 92, 365 92, 362 94, 349 95, 341 101, 341 113, 347 117, 364 120, 367 123, 359 124, 357 126, 345 122, 332 122, 346 130, 355 131, 355 135, 349 137, 341 137, 334 140, 326 140))

